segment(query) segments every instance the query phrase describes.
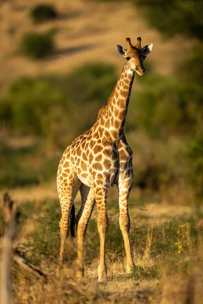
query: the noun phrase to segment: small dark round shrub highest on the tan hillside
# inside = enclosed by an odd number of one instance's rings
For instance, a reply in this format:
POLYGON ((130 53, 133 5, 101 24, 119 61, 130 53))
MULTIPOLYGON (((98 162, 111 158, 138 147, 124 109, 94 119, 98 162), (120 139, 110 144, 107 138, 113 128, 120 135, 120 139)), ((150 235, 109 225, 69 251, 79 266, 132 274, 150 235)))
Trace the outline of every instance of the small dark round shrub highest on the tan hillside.
POLYGON ((30 17, 35 23, 56 19, 57 16, 55 8, 48 4, 37 5, 30 12, 30 17))

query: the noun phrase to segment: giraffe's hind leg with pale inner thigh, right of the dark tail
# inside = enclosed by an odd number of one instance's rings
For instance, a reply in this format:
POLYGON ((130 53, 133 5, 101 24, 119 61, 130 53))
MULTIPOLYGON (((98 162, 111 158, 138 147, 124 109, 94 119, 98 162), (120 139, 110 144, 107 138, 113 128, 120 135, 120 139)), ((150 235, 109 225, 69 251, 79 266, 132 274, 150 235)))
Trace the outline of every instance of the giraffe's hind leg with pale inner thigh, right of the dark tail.
POLYGON ((77 258, 77 273, 76 276, 81 278, 84 274, 83 267, 83 248, 87 224, 92 214, 95 205, 94 189, 82 185, 80 188, 82 204, 84 209, 78 221, 77 242, 78 242, 78 258, 77 258))

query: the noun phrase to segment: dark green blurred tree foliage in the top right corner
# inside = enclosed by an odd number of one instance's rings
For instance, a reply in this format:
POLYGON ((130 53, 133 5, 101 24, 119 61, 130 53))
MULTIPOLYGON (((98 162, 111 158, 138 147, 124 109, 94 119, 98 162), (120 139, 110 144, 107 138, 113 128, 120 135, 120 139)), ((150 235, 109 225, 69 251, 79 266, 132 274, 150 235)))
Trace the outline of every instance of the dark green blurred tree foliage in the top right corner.
POLYGON ((203 2, 198 0, 133 0, 146 20, 162 34, 184 34, 203 40, 203 2))

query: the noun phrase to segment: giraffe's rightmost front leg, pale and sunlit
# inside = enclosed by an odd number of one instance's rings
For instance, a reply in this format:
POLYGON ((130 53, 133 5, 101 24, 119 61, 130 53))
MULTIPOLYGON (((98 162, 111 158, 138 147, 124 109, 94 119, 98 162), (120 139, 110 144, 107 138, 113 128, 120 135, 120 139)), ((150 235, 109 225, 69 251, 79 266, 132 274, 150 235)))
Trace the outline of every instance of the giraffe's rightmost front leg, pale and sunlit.
POLYGON ((119 181, 118 181, 119 209, 120 209, 119 225, 124 240, 127 273, 130 273, 131 269, 135 267, 135 264, 132 259, 132 252, 131 252, 130 240, 129 240, 130 217, 128 212, 128 197, 131 191, 132 183, 133 183, 132 174, 129 174, 125 177, 123 175, 119 176, 119 181))

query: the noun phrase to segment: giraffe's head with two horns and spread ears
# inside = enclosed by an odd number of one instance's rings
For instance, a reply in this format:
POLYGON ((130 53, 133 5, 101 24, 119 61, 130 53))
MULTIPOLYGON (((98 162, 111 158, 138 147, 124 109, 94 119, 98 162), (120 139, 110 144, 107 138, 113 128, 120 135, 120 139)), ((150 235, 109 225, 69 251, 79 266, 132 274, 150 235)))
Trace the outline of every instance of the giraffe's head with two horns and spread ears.
POLYGON ((117 51, 120 55, 126 58, 127 66, 129 67, 129 69, 132 71, 136 71, 139 75, 142 76, 145 73, 143 61, 151 52, 153 43, 150 43, 141 48, 141 37, 138 37, 137 45, 135 47, 131 45, 129 38, 126 38, 126 41, 127 49, 125 50, 123 46, 117 45, 117 51))

